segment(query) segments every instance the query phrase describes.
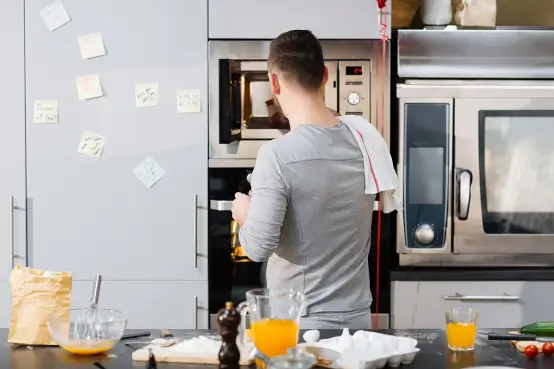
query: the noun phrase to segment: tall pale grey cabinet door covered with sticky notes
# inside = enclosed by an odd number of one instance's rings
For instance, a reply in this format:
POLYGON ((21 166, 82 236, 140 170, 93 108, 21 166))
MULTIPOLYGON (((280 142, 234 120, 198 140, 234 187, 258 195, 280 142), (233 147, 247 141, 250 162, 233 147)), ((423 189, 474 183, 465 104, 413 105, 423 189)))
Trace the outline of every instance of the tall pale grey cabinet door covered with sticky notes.
POLYGON ((207 0, 64 2, 72 21, 50 32, 26 1, 27 116, 57 100, 58 124, 27 121, 31 265, 75 280, 207 280, 207 0), (107 55, 83 60, 78 37, 101 32, 107 55), (75 77, 98 74, 104 96, 79 100, 75 77), (135 84, 159 104, 136 107, 135 84), (177 91, 201 93, 179 114, 177 91), (77 153, 105 137, 101 158, 77 153), (165 176, 146 188, 133 170, 152 157, 165 176))

